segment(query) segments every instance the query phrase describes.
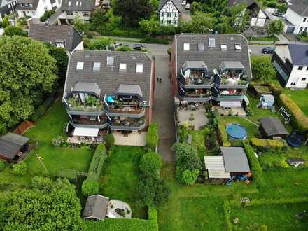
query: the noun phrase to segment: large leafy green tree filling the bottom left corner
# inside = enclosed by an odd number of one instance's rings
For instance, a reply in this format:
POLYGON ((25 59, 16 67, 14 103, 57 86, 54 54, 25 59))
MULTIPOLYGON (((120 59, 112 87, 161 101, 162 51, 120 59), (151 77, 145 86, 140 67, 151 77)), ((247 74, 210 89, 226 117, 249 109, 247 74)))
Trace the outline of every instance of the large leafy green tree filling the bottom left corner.
POLYGON ((3 230, 82 230, 80 201, 66 179, 38 179, 30 189, 13 191, 1 207, 3 230))

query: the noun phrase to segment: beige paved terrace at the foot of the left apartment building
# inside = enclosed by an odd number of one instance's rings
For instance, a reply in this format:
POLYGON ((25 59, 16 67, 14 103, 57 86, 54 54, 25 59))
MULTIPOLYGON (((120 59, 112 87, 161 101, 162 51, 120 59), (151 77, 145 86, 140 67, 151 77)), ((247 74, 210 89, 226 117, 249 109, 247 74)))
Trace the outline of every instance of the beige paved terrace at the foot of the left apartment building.
POLYGON ((113 132, 116 145, 146 146, 146 132, 131 132, 124 135, 121 132, 113 132))

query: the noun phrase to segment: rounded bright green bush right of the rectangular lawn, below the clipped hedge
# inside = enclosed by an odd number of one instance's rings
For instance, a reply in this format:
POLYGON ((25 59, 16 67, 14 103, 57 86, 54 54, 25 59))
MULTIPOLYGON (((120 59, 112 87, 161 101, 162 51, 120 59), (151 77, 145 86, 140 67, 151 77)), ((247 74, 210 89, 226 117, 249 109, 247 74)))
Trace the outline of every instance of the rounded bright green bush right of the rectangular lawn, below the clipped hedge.
POLYGON ((140 170, 146 176, 160 177, 162 158, 159 153, 146 153, 141 157, 140 170))

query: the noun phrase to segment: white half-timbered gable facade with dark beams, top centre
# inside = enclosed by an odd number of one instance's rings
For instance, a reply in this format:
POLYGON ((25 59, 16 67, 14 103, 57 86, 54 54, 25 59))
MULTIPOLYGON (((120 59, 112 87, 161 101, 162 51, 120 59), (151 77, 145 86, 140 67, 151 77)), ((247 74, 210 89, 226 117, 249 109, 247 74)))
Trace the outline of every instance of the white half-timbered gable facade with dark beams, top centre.
POLYGON ((161 25, 179 25, 179 10, 172 1, 167 1, 164 7, 160 10, 161 25))

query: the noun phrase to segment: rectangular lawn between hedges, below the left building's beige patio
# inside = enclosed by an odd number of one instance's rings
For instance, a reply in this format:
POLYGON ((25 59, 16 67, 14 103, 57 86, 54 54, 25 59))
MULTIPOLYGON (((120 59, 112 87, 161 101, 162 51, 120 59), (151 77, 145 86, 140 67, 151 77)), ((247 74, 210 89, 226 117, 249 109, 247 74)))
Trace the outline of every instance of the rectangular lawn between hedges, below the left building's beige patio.
POLYGON ((99 181, 102 195, 130 204, 134 218, 147 218, 146 209, 138 204, 139 160, 142 147, 116 146, 108 158, 99 181))

